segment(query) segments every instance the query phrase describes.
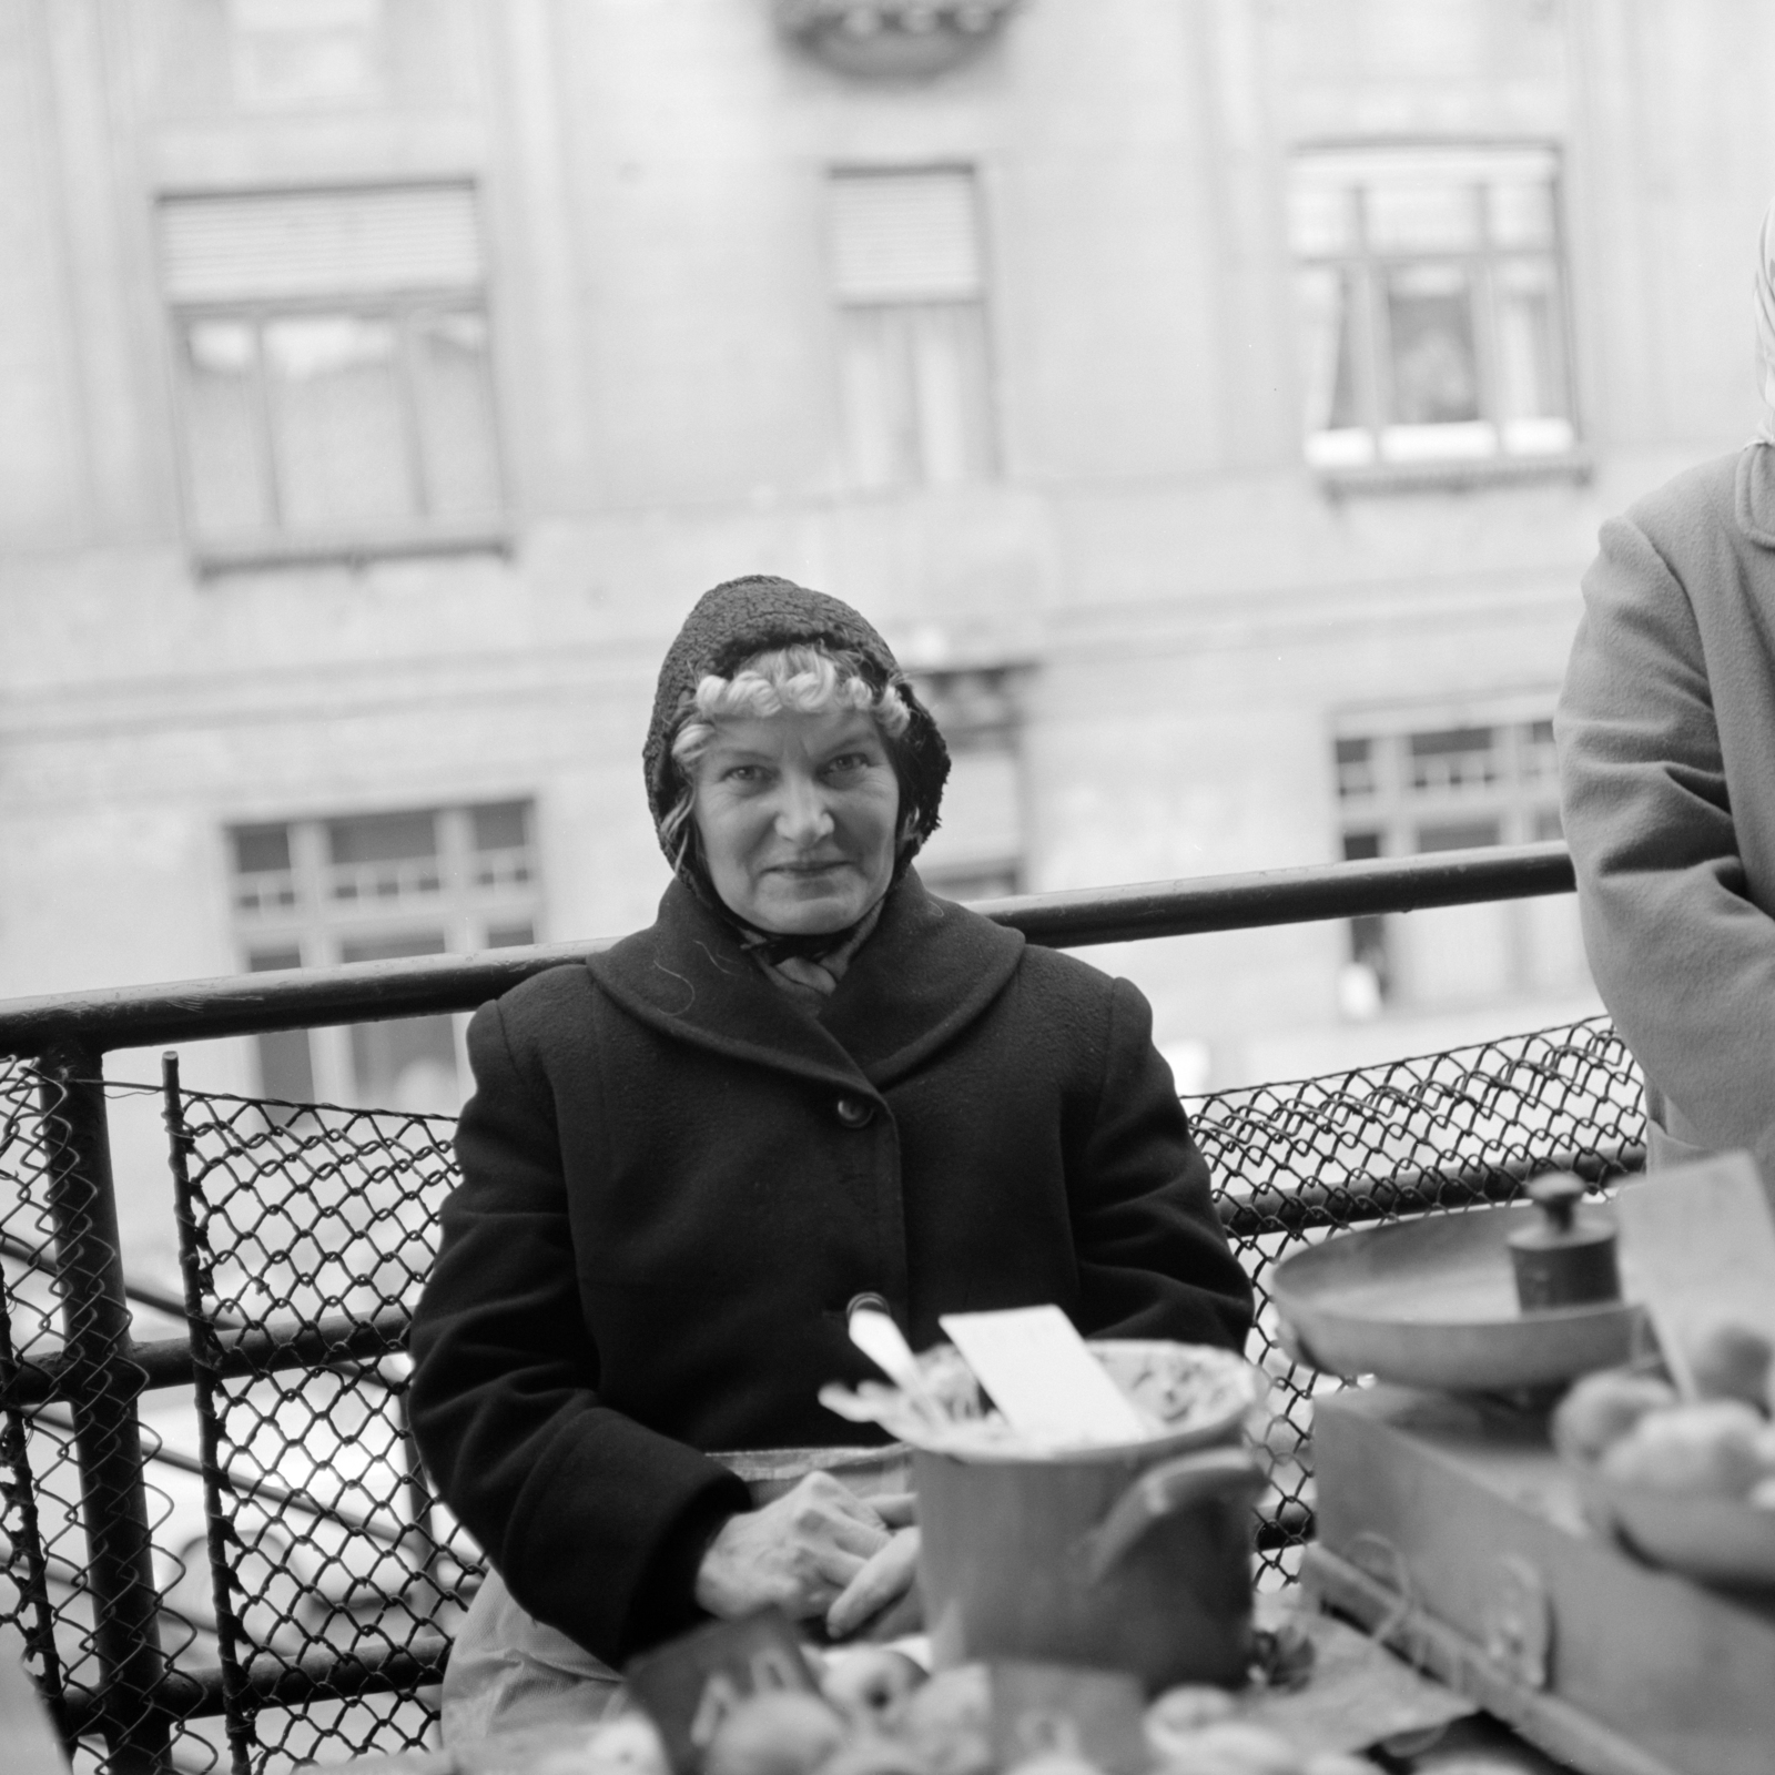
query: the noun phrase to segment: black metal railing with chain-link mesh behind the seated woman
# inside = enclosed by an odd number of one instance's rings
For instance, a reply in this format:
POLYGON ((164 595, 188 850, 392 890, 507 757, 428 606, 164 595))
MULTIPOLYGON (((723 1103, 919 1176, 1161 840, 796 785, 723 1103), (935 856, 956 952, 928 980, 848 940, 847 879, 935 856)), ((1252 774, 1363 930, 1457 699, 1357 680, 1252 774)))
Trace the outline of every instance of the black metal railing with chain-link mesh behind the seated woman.
MULTIPOLYGON (((1079 948, 1571 888, 1569 857, 1555 843, 1021 896, 980 911, 1031 941, 1079 948)), ((169 1058, 162 1093, 185 1280, 185 1298, 174 1299, 124 1280, 105 1054, 470 1010, 600 948, 0 1003, 0 1056, 11 1056, 0 1058, 0 1262, 9 1266, 0 1480, 20 1592, 11 1617, 64 1738, 87 1761, 135 1775, 169 1759, 197 1766, 192 1757, 227 1755, 247 1770, 264 1761, 256 1720, 266 1708, 412 1697, 437 1681, 447 1656, 438 1622, 463 1603, 477 1569, 476 1551, 424 1491, 399 1370, 430 1219, 453 1175, 449 1124, 188 1092, 169 1058), (181 1315, 186 1335, 138 1342, 131 1303, 181 1315), (142 1395, 169 1388, 192 1393, 197 1454, 144 1440, 142 1395), (334 1424, 339 1411, 355 1431, 334 1424), (323 1425, 332 1429, 323 1434, 323 1425), (316 1456, 335 1432, 332 1454, 316 1456), (351 1461, 378 1438, 382 1454, 353 1477, 351 1461), (337 1471, 327 1471, 328 1459, 337 1471), (304 1461, 314 1470, 291 1477, 304 1461), (202 1480, 213 1619, 169 1605, 190 1590, 188 1573, 156 1573, 156 1468, 202 1480), (380 1477, 366 1477, 371 1470, 380 1477), (323 1495, 328 1486, 334 1496, 323 1495), (291 1534, 291 1518, 321 1526, 291 1534), (321 1626, 318 1605, 304 1615, 307 1605, 279 1603, 298 1587, 291 1558, 279 1564, 286 1542, 305 1544, 321 1564, 375 1567, 364 1580, 382 1598, 375 1631, 351 1615, 350 1596, 328 1605, 321 1626), (248 1576, 252 1562, 270 1576, 248 1576), (405 1608, 392 1626, 390 1594, 405 1608), (208 1653, 209 1640, 213 1661, 193 1661, 193 1647, 208 1653), (225 1748, 193 1736, 192 1722, 217 1716, 225 1748)), ((1221 1179, 1223 1221, 1260 1298, 1282 1250, 1324 1228, 1507 1198, 1548 1163, 1596 1180, 1640 1163, 1638 1081, 1603 1022, 1218 1093, 1193 1115, 1221 1179)), ((1310 1530, 1314 1379, 1294 1374, 1271 1331, 1273 1321, 1260 1321, 1260 1354, 1285 1409, 1258 1548, 1285 1574, 1310 1530)), ((371 1741, 373 1731, 339 1734, 353 1748, 371 1741)), ((288 1738, 282 1748, 293 1748, 288 1738)))

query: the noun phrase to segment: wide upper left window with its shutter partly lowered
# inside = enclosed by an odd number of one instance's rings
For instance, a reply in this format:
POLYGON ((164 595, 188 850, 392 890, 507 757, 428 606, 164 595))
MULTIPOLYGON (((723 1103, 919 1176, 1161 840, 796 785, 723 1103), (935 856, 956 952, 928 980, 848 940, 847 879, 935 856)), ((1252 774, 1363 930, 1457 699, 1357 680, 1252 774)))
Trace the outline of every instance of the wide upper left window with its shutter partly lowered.
POLYGON ((160 220, 201 556, 497 541, 467 185, 172 199, 160 220))

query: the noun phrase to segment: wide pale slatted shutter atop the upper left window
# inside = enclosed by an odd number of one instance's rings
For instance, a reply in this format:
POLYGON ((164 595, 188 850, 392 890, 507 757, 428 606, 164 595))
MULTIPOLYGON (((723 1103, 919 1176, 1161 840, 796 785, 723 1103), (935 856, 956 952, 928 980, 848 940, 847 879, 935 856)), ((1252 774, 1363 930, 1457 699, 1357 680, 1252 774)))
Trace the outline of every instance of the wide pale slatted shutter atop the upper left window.
POLYGON ((172 302, 474 289, 485 275, 469 185, 167 199, 160 243, 172 302))

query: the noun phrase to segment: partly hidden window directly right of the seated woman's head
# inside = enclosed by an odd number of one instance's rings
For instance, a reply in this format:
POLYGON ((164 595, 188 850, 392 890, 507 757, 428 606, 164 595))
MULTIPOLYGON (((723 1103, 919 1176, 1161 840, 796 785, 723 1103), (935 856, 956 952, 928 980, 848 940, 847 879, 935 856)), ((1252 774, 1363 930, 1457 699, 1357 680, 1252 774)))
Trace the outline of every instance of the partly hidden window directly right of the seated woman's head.
POLYGON ((1015 671, 914 674, 919 701, 950 747, 943 824, 918 873, 946 900, 992 900, 1024 886, 1022 747, 1015 671))

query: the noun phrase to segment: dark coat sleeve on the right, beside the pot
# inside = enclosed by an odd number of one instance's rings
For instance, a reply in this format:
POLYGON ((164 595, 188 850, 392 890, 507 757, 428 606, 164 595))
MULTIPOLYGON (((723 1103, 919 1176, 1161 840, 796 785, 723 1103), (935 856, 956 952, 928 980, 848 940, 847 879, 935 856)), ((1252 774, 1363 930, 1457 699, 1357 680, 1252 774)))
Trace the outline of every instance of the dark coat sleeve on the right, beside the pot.
POLYGON ((1079 1329, 1242 1349, 1251 1282, 1227 1242, 1209 1168, 1152 1045, 1152 1012, 1116 980, 1102 1083, 1072 1182, 1079 1329))

